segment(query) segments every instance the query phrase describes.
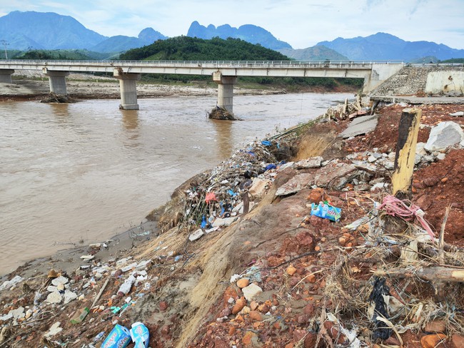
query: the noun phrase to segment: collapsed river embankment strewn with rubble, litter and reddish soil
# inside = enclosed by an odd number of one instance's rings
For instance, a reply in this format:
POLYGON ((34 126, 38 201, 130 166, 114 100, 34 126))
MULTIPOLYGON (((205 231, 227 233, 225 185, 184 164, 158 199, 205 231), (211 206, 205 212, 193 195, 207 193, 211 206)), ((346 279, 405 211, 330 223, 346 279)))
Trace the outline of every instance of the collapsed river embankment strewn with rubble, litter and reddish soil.
MULTIPOLYGON (((462 283, 415 271, 463 267, 462 145, 416 158, 413 203, 433 231, 451 205, 443 257, 416 220, 398 219, 398 235, 375 209, 390 190, 403 108, 380 108, 370 131, 346 138, 350 120, 324 118, 256 141, 178 188, 152 214, 160 235, 126 257, 105 259, 104 245, 94 245, 62 277, 55 270, 4 285, 0 344, 92 347, 116 323, 143 322, 150 347, 434 347, 445 339, 460 347, 462 283), (311 215, 321 201, 341 208, 338 222, 311 215), (86 318, 71 324, 85 307, 86 318)), ((462 106, 422 110, 420 142, 442 121, 464 125, 450 116, 462 106)))

